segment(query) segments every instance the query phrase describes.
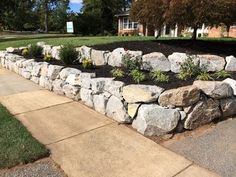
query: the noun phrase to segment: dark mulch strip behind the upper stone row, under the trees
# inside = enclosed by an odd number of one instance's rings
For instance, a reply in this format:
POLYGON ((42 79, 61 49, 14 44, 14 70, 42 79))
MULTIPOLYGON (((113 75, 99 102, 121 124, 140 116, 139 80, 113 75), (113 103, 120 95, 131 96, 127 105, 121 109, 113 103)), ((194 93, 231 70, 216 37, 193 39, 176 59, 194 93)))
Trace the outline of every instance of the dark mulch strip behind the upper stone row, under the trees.
POLYGON ((97 50, 109 51, 119 47, 128 50, 141 50, 144 54, 162 52, 166 56, 169 56, 174 52, 184 52, 188 54, 215 54, 223 57, 236 55, 236 41, 153 40, 117 42, 92 46, 92 48, 97 50))

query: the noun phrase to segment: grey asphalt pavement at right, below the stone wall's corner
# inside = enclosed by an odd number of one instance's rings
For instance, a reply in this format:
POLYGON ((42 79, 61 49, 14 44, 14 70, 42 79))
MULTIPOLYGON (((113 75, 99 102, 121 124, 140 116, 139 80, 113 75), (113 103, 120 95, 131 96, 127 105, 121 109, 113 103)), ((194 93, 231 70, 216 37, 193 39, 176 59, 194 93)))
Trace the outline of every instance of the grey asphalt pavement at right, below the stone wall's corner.
POLYGON ((165 146, 224 177, 236 176, 236 118, 201 136, 165 142, 165 146))

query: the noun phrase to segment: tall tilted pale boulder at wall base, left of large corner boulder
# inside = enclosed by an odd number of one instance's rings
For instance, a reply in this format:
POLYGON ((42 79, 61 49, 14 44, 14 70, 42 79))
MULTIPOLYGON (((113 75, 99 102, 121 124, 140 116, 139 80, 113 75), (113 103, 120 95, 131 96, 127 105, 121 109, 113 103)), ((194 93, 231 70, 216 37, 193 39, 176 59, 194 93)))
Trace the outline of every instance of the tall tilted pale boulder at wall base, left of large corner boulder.
POLYGON ((122 101, 115 97, 111 96, 107 102, 106 113, 108 117, 116 120, 120 123, 130 123, 131 119, 127 114, 124 104, 122 101))

